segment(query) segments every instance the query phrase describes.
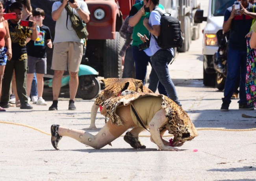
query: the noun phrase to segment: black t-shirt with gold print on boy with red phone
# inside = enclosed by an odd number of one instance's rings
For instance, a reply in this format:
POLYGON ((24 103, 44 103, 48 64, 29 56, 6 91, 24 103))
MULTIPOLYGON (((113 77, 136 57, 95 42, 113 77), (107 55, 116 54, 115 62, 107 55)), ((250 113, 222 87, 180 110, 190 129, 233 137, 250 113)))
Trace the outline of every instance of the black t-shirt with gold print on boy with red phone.
POLYGON ((26 26, 20 26, 20 23, 13 24, 8 20, 9 32, 11 36, 11 48, 13 60, 27 60, 26 39, 33 33, 33 30, 26 26))

